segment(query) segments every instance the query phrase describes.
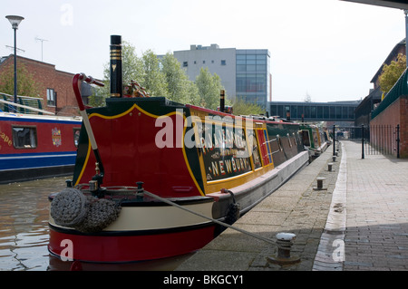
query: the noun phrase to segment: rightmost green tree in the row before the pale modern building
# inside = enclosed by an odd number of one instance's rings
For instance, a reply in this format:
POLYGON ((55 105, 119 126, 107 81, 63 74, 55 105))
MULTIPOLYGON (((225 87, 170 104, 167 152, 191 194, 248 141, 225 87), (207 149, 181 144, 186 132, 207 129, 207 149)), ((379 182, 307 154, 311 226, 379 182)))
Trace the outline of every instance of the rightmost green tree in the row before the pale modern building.
POLYGON ((201 67, 196 78, 196 85, 199 89, 199 105, 210 110, 217 110, 219 106, 219 93, 224 89, 219 75, 217 73, 212 75, 208 67, 201 67))

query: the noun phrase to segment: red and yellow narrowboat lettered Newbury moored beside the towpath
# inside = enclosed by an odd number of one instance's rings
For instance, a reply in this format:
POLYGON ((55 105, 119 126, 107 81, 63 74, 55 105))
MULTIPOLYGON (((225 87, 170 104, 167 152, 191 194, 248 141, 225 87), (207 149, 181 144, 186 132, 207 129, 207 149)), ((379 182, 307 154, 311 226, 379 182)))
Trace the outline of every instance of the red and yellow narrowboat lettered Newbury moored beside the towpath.
POLYGON ((73 179, 49 196, 48 249, 98 263, 186 254, 208 244, 308 164, 293 122, 236 116, 149 97, 121 83, 111 36, 111 97, 85 109, 73 179))

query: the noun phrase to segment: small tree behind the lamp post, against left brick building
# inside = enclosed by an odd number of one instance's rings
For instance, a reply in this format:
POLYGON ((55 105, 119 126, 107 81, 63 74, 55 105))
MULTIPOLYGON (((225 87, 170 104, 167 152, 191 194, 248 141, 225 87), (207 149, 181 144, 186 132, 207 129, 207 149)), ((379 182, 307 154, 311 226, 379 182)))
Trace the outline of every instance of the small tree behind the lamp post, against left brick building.
MULTIPOLYGON (((34 76, 28 72, 24 63, 17 64, 17 93, 18 95, 39 97, 40 89, 37 82, 34 81, 34 76)), ((15 67, 8 66, 4 72, 0 74, 0 92, 14 95, 15 93, 15 67)))

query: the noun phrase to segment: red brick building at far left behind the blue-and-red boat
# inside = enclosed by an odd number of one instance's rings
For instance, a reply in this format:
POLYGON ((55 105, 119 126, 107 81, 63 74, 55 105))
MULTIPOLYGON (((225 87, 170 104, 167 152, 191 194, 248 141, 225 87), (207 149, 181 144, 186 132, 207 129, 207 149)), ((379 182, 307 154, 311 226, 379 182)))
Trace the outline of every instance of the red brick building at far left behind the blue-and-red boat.
MULTIPOLYGON (((14 67, 13 55, 0 59, 0 73, 9 66, 14 67)), ((58 71, 54 64, 17 55, 17 67, 21 63, 24 63, 25 68, 39 86, 38 97, 43 99, 43 110, 56 112, 58 115, 79 115, 78 104, 73 94, 73 73, 58 71)))

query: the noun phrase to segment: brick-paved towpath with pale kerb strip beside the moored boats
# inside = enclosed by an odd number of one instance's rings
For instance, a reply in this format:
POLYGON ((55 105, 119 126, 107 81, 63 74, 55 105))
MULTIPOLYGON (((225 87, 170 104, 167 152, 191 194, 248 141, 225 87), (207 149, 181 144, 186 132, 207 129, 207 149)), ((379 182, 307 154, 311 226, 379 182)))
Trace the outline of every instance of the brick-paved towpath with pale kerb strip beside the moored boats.
POLYGON ((408 270, 408 159, 362 159, 351 140, 338 147, 335 161, 329 147, 234 224, 275 241, 296 234, 290 254, 299 262, 268 262, 277 246, 228 228, 177 270, 408 270))

